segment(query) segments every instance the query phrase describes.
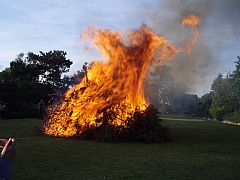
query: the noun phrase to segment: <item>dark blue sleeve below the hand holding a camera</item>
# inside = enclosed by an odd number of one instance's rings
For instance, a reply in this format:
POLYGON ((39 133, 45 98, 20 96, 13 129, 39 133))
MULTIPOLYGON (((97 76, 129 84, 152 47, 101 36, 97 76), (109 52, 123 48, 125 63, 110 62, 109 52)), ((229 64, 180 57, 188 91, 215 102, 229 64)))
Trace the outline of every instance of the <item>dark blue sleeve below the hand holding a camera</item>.
POLYGON ((6 157, 0 157, 0 179, 12 179, 12 161, 6 157))

